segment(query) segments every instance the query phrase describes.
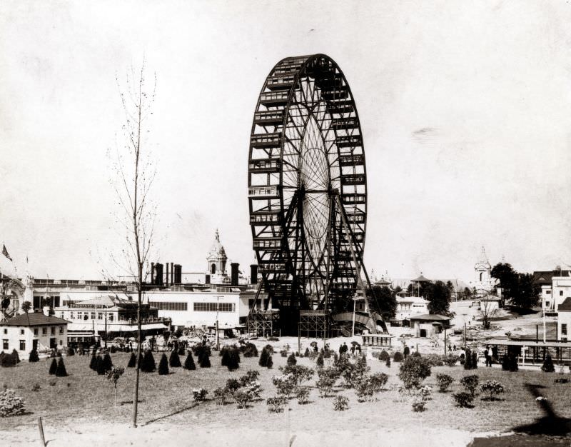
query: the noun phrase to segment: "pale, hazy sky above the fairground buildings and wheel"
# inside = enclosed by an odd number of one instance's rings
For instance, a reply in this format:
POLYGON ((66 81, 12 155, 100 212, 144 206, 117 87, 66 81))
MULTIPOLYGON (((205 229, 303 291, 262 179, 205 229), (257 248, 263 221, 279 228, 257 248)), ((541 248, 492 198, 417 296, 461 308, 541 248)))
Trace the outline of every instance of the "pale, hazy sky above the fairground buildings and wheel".
POLYGON ((18 273, 26 256, 36 277, 113 271, 108 152, 143 57, 157 79, 153 258, 205 271, 218 228, 248 271, 258 94, 279 60, 315 53, 343 70, 359 112, 368 271, 470 281, 480 246, 518 271, 571 264, 570 4, 116 3, 0 6, 0 242, 18 273))

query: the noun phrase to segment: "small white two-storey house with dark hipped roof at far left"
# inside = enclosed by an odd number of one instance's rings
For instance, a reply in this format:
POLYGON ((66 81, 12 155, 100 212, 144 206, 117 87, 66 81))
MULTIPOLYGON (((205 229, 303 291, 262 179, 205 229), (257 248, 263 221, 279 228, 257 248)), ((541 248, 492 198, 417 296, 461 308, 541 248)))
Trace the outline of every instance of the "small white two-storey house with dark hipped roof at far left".
POLYGON ((41 312, 21 313, 0 323, 2 351, 18 351, 22 358, 32 349, 46 351, 67 345, 68 321, 41 312))

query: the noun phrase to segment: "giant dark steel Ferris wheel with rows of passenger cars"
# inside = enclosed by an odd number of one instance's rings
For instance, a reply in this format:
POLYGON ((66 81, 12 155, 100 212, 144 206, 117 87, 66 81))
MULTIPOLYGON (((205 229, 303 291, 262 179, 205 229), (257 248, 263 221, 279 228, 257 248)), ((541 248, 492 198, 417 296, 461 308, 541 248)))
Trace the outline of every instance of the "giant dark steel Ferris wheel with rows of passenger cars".
POLYGON ((353 306, 362 273, 368 282, 365 152, 349 84, 328 56, 288 57, 268 74, 253 118, 248 202, 273 306, 353 306))

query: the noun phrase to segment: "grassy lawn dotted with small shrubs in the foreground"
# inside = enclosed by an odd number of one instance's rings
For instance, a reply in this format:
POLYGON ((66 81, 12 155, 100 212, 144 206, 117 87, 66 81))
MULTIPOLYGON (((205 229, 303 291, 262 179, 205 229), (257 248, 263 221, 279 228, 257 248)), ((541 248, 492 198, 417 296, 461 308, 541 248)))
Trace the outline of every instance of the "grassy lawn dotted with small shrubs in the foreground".
MULTIPOLYGON (((128 354, 112 354, 113 363, 126 366, 128 354)), ((158 364, 159 356, 155 354, 158 364)), ((35 426, 38 416, 42 416, 51 426, 64 424, 73 427, 81 423, 128 424, 131 421, 133 368, 126 368, 126 373, 118 382, 118 406, 113 406, 113 386, 105 376, 97 376, 89 369, 89 356, 71 356, 65 358, 69 377, 56 378, 49 376, 49 361, 39 363, 22 362, 14 368, 0 369, 0 386, 6 384, 14 388, 16 394, 26 401, 24 416, 0 419, 0 430, 25 429, 35 426), (55 384, 51 386, 49 383, 55 384), (38 383, 39 391, 32 391, 38 383)), ((183 359, 182 359, 183 360, 183 359)), ((288 418, 285 413, 268 413, 266 398, 274 396, 275 390, 271 378, 278 375, 279 366, 285 365, 285 358, 274 354, 274 367, 271 370, 258 367, 258 358, 242 358, 241 368, 229 372, 220 366, 220 357, 213 353, 212 368, 198 368, 186 371, 183 368, 171 368, 168 376, 158 373, 141 373, 141 392, 139 404, 139 422, 142 425, 160 424, 192 424, 206 429, 228 428, 240 426, 248 421, 266 431, 282 431, 288 423, 291 428, 300 431, 328 431, 331 428, 360 429, 370 427, 419 428, 422 426, 458 428, 466 431, 510 431, 515 426, 534 423, 542 412, 535 399, 525 390, 524 383, 545 386, 543 395, 552 403, 558 416, 571 418, 571 384, 554 383, 559 376, 556 373, 541 371, 504 372, 501 368, 485 368, 480 366, 475 371, 465 371, 461 366, 443 366, 433 368, 432 376, 425 383, 433 386, 433 398, 428 401, 427 410, 423 413, 412 411, 410 401, 403 401, 398 391, 384 391, 373 402, 359 403, 353 390, 338 388, 337 393, 349 398, 349 409, 345 412, 333 411, 332 398, 320 398, 316 388, 311 390, 310 403, 298 405, 292 399, 288 418), (210 396, 214 388, 223 386, 227 378, 239 378, 249 368, 260 371, 263 388, 263 401, 255 402, 248 409, 238 409, 235 403, 217 406, 213 401, 193 403, 192 389, 203 387, 210 396), (448 393, 438 393, 435 386, 436 374, 448 373, 455 378, 455 383, 448 393), (465 375, 476 373, 480 382, 495 379, 507 386, 508 391, 502 401, 475 400, 475 407, 457 408, 452 393, 460 391, 458 381, 465 375)), ((315 366, 308 358, 300 358, 299 364, 315 366)), ((387 368, 384 363, 369 361, 371 372, 389 374, 388 387, 398 384, 398 363, 387 368)), ((315 384, 315 378, 311 385, 315 384)))

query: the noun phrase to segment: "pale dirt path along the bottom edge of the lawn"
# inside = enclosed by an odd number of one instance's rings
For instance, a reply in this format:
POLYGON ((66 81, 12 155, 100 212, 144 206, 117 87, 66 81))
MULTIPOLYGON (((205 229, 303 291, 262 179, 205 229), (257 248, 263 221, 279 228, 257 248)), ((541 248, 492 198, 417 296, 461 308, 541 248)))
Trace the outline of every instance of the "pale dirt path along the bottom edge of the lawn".
MULTIPOLYGON (((244 421, 245 424, 260 423, 244 421)), ((122 424, 78 423, 74 427, 45 427, 49 447, 70 446, 466 446, 475 436, 486 433, 435 429, 423 426, 403 430, 382 428, 345 431, 296 432, 286 435, 283 431, 262 431, 253 428, 209 429, 191 424, 161 423, 153 426, 130 428, 122 424)), ((26 428, 24 431, 2 433, 3 446, 39 446, 39 432, 26 428)))

